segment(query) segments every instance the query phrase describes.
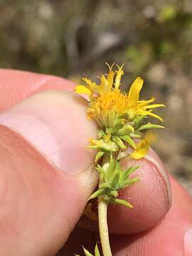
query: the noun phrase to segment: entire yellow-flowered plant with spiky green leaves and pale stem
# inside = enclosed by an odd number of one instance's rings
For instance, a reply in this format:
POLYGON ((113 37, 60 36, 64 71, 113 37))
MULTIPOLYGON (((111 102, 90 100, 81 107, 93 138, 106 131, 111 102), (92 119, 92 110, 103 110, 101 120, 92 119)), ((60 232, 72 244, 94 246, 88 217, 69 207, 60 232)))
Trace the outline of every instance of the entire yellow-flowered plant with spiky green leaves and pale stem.
MULTIPOLYGON (((107 64, 107 63, 106 63, 107 64)), ((100 83, 82 78, 85 85, 77 85, 75 92, 87 95, 87 118, 97 123, 97 138, 90 138, 90 149, 95 149, 95 169, 100 175, 97 191, 90 199, 98 198, 98 221, 100 240, 104 256, 111 256, 110 239, 107 227, 107 205, 110 203, 133 208, 132 204, 118 198, 119 190, 139 181, 131 174, 139 166, 136 164, 123 170, 120 165, 122 158, 142 159, 149 150, 149 140, 144 131, 164 128, 162 125, 148 122, 149 117, 163 122, 154 113, 156 107, 164 104, 154 104, 154 97, 140 100, 139 95, 144 84, 140 77, 136 78, 129 92, 121 90, 121 78, 124 75, 123 66, 108 65, 107 75, 100 76, 100 83)), ((128 160, 129 161, 129 160, 128 160)), ((86 256, 93 256, 83 247, 86 256)), ((95 256, 100 256, 97 245, 95 256)))

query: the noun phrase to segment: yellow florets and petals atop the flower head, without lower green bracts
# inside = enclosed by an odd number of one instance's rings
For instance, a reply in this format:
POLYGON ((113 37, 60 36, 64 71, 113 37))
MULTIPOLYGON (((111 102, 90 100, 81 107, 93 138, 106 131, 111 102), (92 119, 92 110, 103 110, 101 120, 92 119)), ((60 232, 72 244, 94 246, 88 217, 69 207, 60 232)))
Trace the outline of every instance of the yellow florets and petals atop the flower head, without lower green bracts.
MULTIPOLYGON (((108 65, 108 64, 107 64, 108 65)), ((144 80, 140 77, 136 78, 132 83, 128 94, 121 92, 121 78, 124 74, 122 68, 117 66, 117 70, 113 71, 114 64, 110 67, 109 73, 102 75, 100 85, 92 82, 90 79, 83 80, 87 85, 78 85, 75 92, 86 94, 89 96, 90 105, 87 108, 87 117, 95 119, 99 127, 113 127, 114 121, 118 116, 124 117, 127 121, 134 121, 137 117, 154 117, 163 121, 161 117, 153 113, 154 108, 164 107, 164 104, 153 104, 155 98, 150 100, 139 100, 139 94, 142 90, 144 80)))

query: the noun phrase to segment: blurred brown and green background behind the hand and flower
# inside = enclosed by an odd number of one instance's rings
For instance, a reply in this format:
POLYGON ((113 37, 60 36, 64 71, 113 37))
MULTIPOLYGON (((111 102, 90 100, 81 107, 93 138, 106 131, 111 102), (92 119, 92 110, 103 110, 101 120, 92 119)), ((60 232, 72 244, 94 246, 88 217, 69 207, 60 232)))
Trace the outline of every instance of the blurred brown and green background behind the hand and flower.
MULTIPOLYGON (((107 63, 166 104, 153 147, 192 194, 192 1, 0 0, 0 67, 97 80, 107 63)), ((126 81, 126 82, 125 82, 126 81)))

